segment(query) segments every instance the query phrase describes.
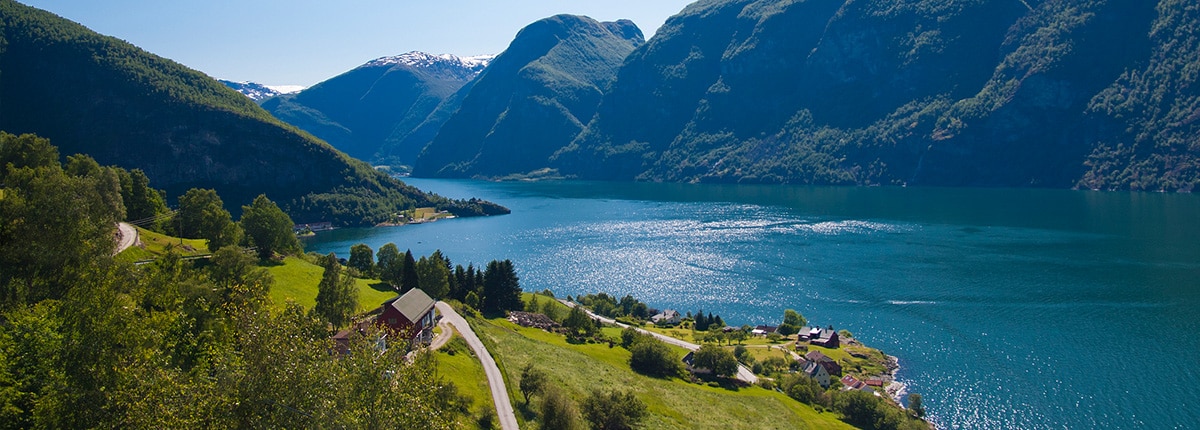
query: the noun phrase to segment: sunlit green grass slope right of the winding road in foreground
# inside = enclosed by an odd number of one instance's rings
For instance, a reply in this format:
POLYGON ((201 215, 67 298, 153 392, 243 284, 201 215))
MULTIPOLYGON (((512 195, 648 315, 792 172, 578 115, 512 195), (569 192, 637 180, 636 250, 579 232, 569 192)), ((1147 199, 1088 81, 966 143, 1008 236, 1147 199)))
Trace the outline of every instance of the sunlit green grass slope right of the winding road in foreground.
MULTIPOLYGON (((592 389, 626 389, 649 407, 647 429, 847 429, 830 412, 820 413, 786 395, 758 387, 728 390, 694 384, 679 378, 659 380, 630 370, 630 353, 607 344, 571 345, 565 338, 522 328, 503 318, 474 319, 476 333, 486 338, 492 356, 503 364, 509 395, 517 414, 533 419, 522 407, 516 388, 527 364, 546 370, 551 384, 571 398, 583 399, 592 389)), ((618 329, 606 335, 619 336, 618 329)), ((683 350, 676 348, 682 357, 683 350)))

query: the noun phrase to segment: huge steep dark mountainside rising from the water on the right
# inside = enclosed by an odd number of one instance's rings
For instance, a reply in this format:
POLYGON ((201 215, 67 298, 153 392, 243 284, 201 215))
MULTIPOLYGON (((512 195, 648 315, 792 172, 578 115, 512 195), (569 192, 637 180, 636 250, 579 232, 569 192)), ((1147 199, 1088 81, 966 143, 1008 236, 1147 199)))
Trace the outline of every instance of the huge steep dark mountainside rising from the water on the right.
POLYGON ((1182 0, 702 0, 629 55, 564 174, 1200 185, 1182 0))

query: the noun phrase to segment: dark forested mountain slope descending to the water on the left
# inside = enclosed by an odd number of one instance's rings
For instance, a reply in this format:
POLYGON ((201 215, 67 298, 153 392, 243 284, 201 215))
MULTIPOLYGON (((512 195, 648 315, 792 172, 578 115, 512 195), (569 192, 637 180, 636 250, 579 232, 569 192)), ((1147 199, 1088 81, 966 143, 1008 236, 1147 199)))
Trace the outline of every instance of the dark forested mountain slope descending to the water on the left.
POLYGON ((169 195, 211 187, 234 210, 266 193, 298 222, 364 225, 434 205, 503 213, 407 186, 288 126, 208 76, 0 0, 0 130, 140 168, 169 195))

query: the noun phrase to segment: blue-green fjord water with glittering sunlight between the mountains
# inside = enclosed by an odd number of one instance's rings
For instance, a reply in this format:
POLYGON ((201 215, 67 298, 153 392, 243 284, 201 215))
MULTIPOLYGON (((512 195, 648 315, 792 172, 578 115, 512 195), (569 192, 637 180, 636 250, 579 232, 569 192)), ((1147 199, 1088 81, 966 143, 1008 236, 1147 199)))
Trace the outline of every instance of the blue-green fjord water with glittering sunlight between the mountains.
POLYGON ((516 264, 527 291, 634 294, 900 358, 941 428, 1200 428, 1200 196, 410 180, 511 215, 322 233, 516 264))

